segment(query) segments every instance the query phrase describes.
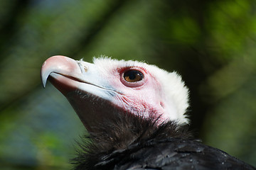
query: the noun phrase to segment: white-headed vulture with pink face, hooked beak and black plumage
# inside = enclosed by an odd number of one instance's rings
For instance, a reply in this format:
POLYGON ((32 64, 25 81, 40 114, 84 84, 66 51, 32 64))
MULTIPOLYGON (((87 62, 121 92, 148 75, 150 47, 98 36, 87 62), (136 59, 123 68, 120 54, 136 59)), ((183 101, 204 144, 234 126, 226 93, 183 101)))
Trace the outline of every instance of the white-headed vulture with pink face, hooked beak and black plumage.
POLYGON ((176 72, 137 61, 53 56, 41 68, 73 106, 87 135, 78 169, 255 169, 188 130, 188 88, 176 72))

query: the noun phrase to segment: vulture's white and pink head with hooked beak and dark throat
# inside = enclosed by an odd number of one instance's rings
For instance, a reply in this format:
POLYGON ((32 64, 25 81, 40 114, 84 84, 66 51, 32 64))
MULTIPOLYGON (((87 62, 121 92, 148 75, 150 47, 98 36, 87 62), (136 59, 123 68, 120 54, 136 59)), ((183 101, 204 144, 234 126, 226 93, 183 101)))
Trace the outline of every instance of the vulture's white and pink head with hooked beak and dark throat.
POLYGON ((64 56, 50 57, 41 69, 66 97, 85 128, 115 114, 131 114, 155 120, 188 123, 188 89, 176 72, 137 61, 94 58, 93 63, 64 56))

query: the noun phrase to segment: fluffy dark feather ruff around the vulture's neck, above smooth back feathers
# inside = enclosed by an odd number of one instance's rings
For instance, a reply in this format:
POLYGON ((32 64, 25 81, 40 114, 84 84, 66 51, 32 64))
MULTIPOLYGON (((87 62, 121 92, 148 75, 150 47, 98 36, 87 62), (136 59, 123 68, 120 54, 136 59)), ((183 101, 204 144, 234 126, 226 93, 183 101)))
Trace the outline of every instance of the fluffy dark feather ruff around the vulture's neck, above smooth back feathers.
POLYGON ((107 159, 113 154, 144 145, 151 140, 193 138, 191 132, 188 132, 188 126, 178 125, 175 121, 159 125, 156 124, 157 120, 145 120, 130 114, 118 115, 114 118, 106 118, 99 125, 95 125, 94 132, 85 135, 82 137, 82 142, 78 142, 80 147, 77 149, 78 156, 72 160, 75 169, 95 169, 102 165, 104 169, 112 169, 107 159))

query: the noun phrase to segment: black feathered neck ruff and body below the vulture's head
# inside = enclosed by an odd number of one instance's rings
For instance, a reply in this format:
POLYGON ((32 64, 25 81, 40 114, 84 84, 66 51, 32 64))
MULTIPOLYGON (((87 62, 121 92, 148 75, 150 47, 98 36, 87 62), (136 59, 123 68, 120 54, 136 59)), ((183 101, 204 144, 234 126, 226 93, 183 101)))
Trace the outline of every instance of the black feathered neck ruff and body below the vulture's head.
POLYGON ((186 126, 118 114, 84 141, 73 159, 78 169, 255 169, 193 140, 186 126))

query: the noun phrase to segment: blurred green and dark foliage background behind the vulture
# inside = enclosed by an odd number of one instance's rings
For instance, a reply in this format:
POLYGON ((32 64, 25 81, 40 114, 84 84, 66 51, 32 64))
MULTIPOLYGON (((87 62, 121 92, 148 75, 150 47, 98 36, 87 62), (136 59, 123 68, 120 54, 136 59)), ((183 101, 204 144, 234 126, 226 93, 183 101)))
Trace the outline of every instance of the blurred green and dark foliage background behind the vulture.
POLYGON ((182 75, 191 129, 256 166, 255 0, 1 0, 1 169, 70 169, 85 128, 41 64, 139 60, 182 75))

